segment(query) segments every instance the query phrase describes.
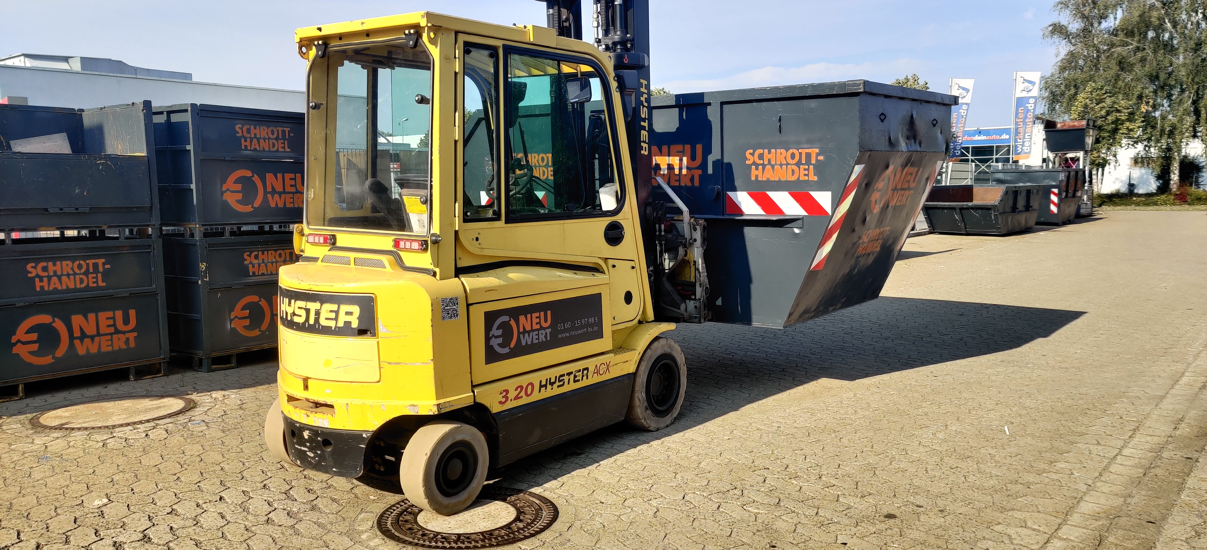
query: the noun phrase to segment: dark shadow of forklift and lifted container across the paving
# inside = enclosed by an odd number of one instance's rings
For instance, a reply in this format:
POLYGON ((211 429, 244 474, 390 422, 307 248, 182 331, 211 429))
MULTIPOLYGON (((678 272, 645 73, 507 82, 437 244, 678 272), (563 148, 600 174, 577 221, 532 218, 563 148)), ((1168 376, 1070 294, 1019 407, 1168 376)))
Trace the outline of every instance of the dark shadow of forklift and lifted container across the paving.
POLYGON ((680 324, 670 338, 688 364, 678 419, 659 432, 625 423, 583 435, 498 472, 501 485, 529 488, 629 449, 690 429, 820 379, 859 380, 1025 346, 1085 315, 917 298, 879 298, 776 330, 719 323, 680 324))

